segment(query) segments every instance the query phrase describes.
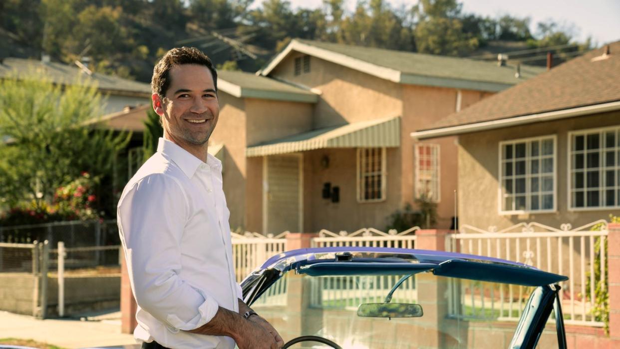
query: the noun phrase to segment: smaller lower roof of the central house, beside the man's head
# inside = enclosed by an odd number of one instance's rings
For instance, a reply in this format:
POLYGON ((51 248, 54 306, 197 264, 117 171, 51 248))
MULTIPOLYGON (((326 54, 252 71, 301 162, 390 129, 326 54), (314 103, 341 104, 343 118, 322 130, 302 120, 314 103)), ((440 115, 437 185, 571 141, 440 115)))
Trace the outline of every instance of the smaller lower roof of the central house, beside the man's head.
POLYGON ((239 98, 306 103, 316 103, 319 100, 311 91, 243 71, 218 71, 218 89, 239 98))

